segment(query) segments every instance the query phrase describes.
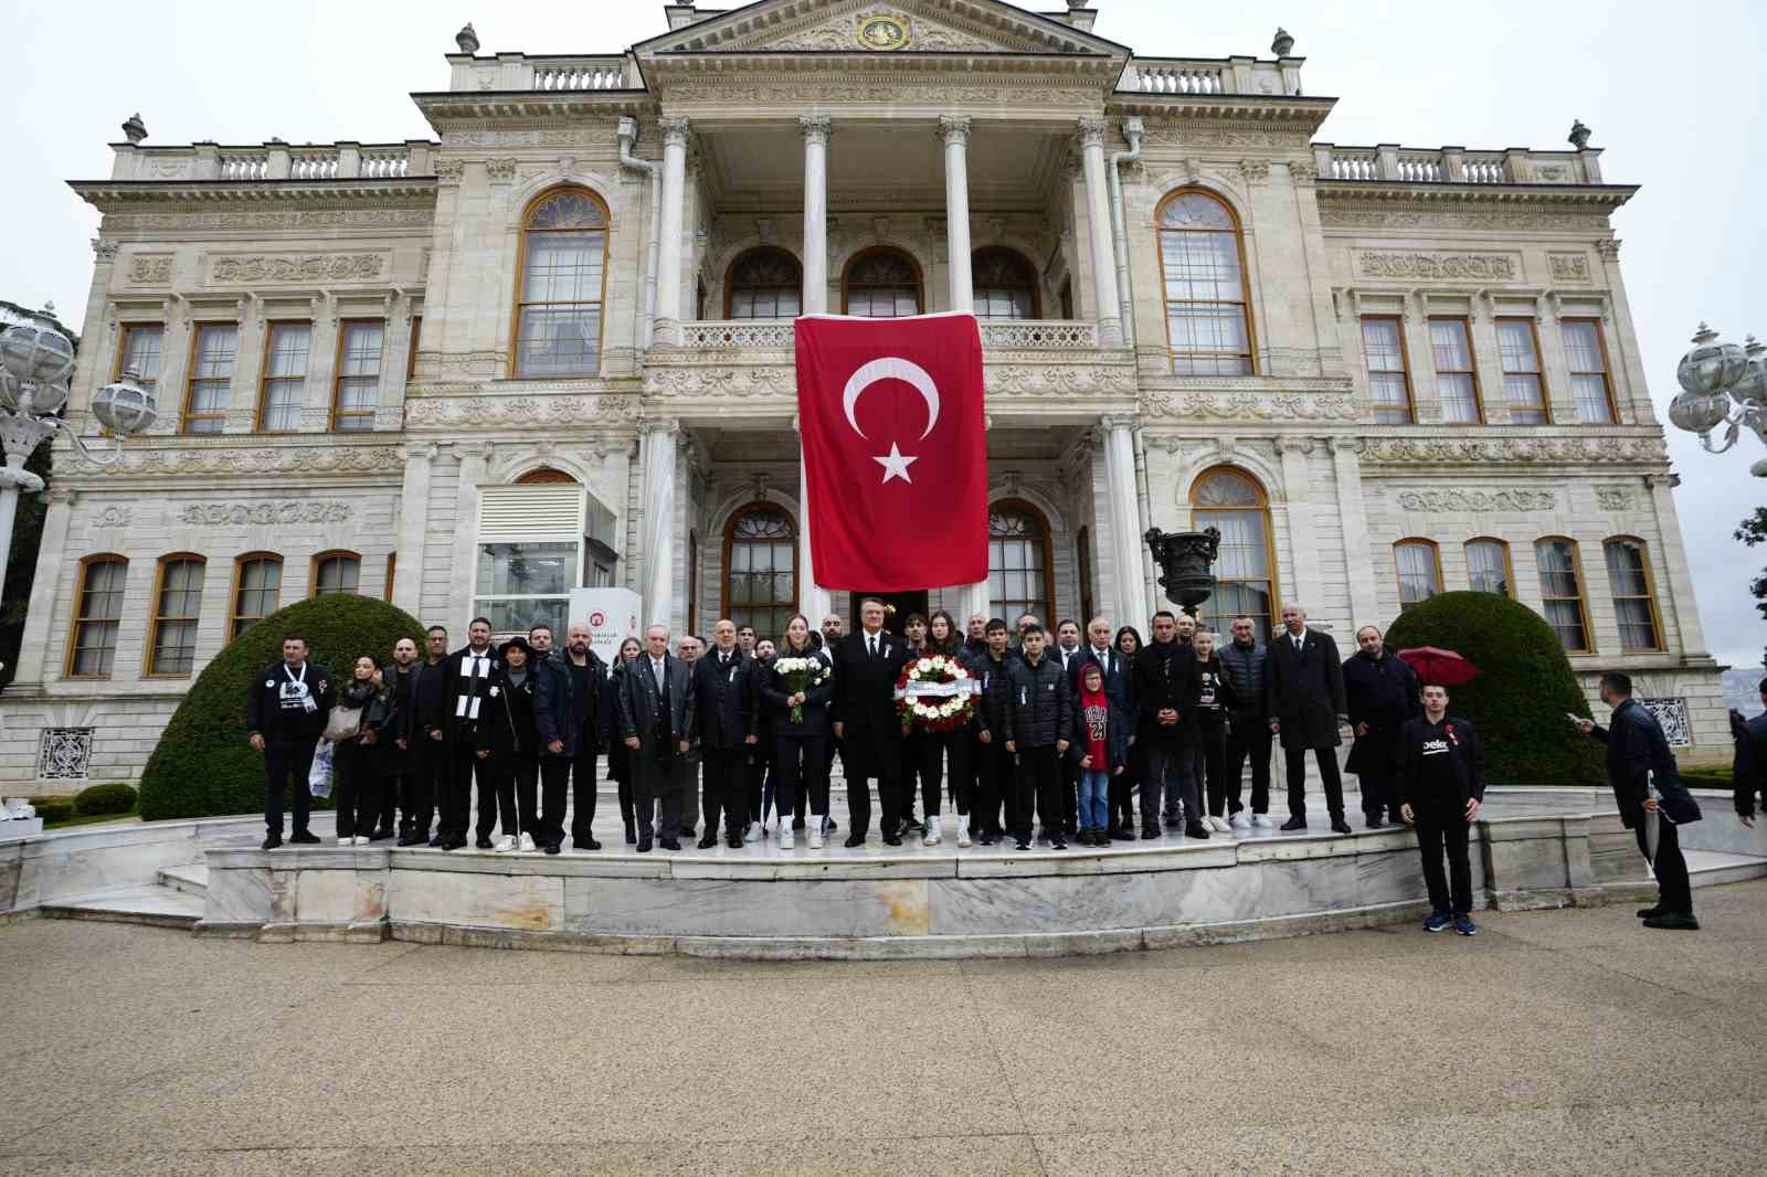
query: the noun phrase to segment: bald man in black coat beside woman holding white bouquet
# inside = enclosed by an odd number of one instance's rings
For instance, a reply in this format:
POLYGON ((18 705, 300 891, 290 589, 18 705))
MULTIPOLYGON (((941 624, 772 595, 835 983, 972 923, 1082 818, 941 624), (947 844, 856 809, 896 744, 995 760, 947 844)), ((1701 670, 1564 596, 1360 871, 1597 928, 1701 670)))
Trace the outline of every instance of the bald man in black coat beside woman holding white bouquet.
POLYGON ((701 850, 717 845, 719 809, 724 811, 724 845, 740 850, 747 832, 749 755, 758 739, 755 677, 755 659, 737 645, 737 624, 719 619, 712 626, 712 649, 693 663, 694 719, 705 771, 701 850))

